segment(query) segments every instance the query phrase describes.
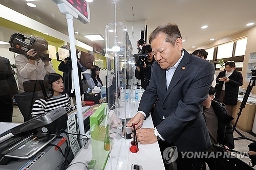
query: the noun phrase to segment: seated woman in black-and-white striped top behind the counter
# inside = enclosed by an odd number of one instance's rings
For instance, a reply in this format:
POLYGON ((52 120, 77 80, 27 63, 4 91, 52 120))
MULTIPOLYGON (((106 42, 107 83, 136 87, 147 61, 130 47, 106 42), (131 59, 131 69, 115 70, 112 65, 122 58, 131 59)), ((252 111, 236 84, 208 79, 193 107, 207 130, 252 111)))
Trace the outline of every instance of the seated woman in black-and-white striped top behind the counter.
MULTIPOLYGON (((38 99, 34 102, 32 108, 32 116, 38 116, 44 113, 48 113, 59 107, 66 109, 68 113, 76 109, 75 106, 71 106, 70 97, 64 91, 63 78, 57 73, 50 73, 45 76, 44 79, 46 84, 49 84, 52 94, 47 100, 38 99)), ((85 103, 81 101, 82 105, 85 103)))

